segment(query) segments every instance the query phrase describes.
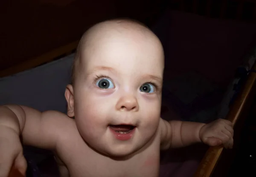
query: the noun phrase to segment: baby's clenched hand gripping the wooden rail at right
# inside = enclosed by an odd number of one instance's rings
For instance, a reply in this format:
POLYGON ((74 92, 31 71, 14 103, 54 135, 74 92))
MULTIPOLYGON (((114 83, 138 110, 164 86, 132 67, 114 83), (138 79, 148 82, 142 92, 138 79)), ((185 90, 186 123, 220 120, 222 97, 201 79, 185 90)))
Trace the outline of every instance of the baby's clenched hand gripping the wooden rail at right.
POLYGON ((224 145, 233 147, 233 128, 229 120, 218 119, 202 126, 199 132, 201 141, 209 146, 224 145))

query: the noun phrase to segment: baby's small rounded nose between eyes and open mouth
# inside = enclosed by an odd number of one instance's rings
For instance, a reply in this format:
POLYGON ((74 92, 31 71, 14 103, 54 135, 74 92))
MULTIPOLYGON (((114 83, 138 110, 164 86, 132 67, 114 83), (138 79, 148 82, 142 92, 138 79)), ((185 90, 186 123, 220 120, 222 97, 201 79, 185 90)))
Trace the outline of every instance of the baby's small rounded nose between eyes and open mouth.
POLYGON ((133 95, 121 97, 116 104, 116 109, 119 111, 138 111, 139 104, 137 98, 133 95))

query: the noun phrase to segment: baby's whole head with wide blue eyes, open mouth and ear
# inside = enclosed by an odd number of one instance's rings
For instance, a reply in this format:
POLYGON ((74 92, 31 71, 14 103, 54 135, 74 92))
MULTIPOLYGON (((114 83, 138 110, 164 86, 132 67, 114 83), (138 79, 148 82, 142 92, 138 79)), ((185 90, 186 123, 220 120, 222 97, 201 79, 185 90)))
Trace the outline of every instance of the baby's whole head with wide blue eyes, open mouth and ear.
POLYGON ((108 20, 86 31, 65 97, 84 140, 126 156, 148 146, 160 120, 164 54, 160 40, 133 20, 108 20))

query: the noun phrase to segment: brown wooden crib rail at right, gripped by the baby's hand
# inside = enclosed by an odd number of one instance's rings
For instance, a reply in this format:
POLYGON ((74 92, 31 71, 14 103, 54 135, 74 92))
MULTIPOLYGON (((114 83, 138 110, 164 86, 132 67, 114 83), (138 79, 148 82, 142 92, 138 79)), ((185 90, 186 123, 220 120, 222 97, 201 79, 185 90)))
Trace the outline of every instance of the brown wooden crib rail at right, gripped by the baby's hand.
MULTIPOLYGON (((256 71, 256 62, 254 63, 252 70, 256 71)), ((233 123, 233 126, 235 126, 239 116, 241 115, 241 111, 245 108, 244 105, 248 101, 248 98, 251 96, 251 92, 255 90, 255 88, 253 88, 255 83, 256 72, 250 72, 244 87, 242 88, 233 105, 230 107, 230 111, 226 117, 227 120, 230 120, 233 123)), ((210 147, 204 155, 204 158, 199 164, 193 177, 210 177, 218 163, 222 150, 223 146, 210 147)))

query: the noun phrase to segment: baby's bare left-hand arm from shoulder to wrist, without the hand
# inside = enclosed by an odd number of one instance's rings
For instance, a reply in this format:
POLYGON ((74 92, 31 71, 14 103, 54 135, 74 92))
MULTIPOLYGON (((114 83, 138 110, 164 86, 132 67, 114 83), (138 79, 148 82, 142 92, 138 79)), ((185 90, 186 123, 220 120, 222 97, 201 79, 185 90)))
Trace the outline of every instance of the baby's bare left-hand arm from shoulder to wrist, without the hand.
POLYGON ((24 145, 55 149, 59 135, 57 111, 40 112, 18 105, 0 106, 0 126, 11 128, 21 135, 24 145))

